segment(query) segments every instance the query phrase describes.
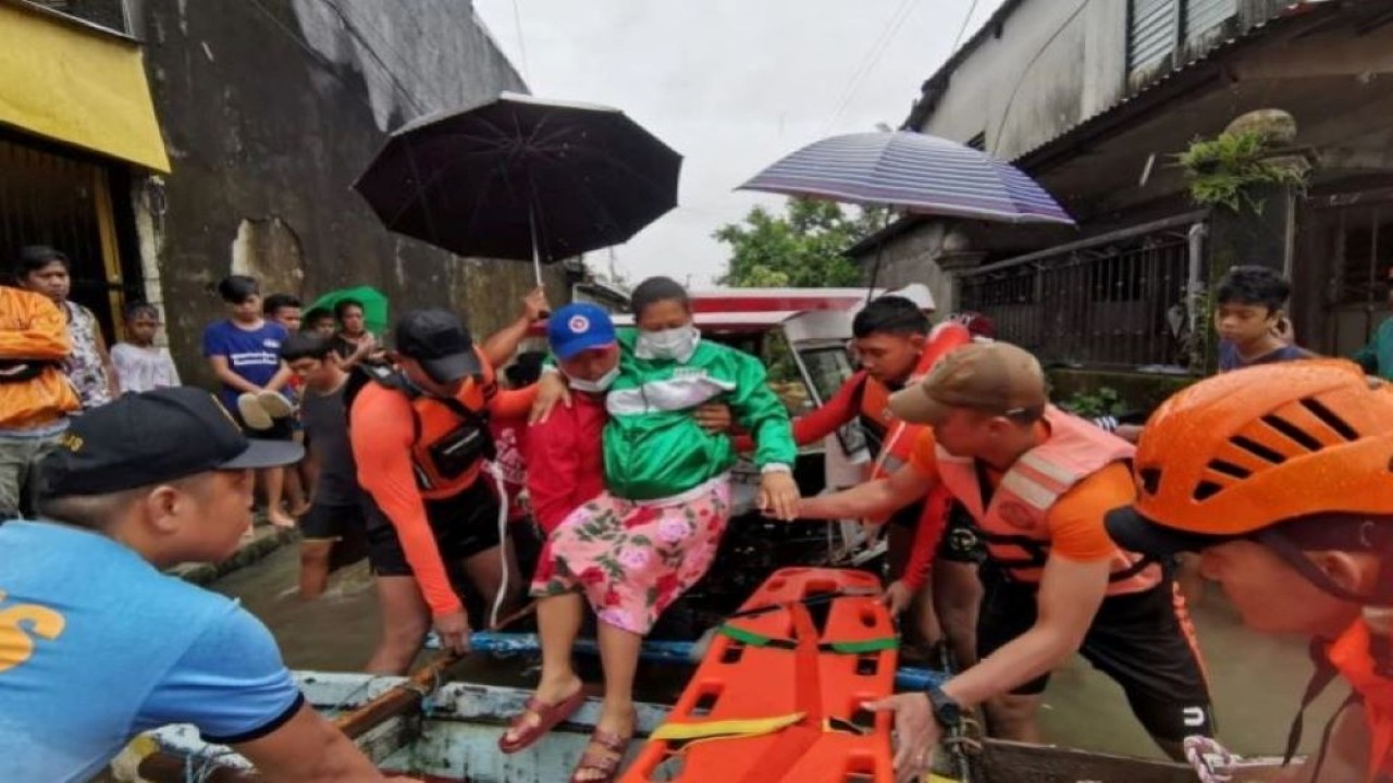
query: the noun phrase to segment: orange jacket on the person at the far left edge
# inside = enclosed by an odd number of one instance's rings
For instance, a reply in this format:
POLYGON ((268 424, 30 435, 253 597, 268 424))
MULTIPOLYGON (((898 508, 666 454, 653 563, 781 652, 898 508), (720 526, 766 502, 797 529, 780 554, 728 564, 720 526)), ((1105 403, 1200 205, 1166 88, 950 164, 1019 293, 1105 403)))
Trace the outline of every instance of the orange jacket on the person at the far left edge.
MULTIPOLYGON (((60 362, 72 351, 68 319, 47 297, 0 286, 0 362, 60 362)), ((0 366, 0 372, 11 369, 0 366)), ((0 383, 0 429, 32 429, 78 410, 77 392, 53 364, 38 376, 0 383)))

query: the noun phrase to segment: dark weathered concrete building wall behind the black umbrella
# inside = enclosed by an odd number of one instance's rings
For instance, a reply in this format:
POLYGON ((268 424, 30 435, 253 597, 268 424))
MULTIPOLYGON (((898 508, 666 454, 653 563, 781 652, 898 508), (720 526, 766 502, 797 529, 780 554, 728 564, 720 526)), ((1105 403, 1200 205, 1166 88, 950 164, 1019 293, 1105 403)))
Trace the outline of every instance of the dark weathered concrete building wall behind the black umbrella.
MULTIPOLYGON (((454 258, 387 233, 350 189, 387 131, 525 89, 460 0, 132 1, 174 173, 137 185, 137 226, 170 347, 191 380, 233 272, 311 298, 384 290, 396 312, 450 305, 476 332, 529 287, 517 262, 454 258)), ((553 300, 560 273, 549 274, 553 300)))

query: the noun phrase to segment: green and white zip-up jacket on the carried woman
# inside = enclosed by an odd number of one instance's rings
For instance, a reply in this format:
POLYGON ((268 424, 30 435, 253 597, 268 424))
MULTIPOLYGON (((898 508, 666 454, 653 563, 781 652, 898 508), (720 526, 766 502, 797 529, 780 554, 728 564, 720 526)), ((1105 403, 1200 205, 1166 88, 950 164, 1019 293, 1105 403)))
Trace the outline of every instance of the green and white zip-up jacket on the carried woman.
POLYGON ((726 403, 755 437, 755 464, 793 467, 798 446, 788 411, 766 383, 755 357, 702 340, 687 364, 641 359, 637 334, 621 330, 620 375, 605 407, 605 481, 627 500, 656 500, 694 489, 729 471, 736 449, 692 417, 703 403, 726 403))

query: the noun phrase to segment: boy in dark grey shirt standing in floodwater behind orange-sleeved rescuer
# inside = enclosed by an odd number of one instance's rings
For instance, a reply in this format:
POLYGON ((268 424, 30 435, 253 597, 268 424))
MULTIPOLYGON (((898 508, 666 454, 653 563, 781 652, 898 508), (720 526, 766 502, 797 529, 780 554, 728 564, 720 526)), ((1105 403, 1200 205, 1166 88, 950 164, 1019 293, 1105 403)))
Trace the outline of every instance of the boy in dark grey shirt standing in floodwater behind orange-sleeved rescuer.
POLYGON ((299 520, 299 598, 311 600, 325 592, 332 571, 368 555, 364 499, 344 410, 348 373, 338 366, 329 340, 318 334, 291 334, 280 357, 304 382, 299 415, 309 442, 315 502, 299 520))

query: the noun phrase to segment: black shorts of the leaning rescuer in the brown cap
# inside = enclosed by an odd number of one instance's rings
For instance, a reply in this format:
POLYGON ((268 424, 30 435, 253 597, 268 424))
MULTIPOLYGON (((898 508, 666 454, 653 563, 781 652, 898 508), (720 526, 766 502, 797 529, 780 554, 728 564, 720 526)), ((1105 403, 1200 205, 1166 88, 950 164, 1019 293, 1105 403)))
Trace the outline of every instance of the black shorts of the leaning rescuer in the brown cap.
MULTIPOLYGON (((997 574, 983 578, 986 596, 978 617, 976 649, 986 658, 1035 624, 1034 585, 1011 584, 997 574)), ((1112 677, 1133 713, 1158 740, 1180 741, 1191 734, 1213 734, 1209 687, 1194 644, 1188 616, 1177 612, 1174 581, 1145 592, 1103 599, 1078 651, 1112 677)), ((1049 674, 1014 691, 1045 691, 1049 674)))

